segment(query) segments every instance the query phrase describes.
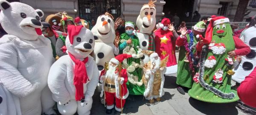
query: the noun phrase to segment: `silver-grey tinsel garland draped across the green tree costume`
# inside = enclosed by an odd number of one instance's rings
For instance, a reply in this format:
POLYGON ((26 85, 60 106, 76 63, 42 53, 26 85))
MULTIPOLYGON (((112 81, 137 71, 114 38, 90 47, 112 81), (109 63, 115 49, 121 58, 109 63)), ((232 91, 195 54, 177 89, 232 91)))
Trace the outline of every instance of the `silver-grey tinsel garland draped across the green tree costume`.
POLYGON ((201 84, 202 87, 204 87, 205 89, 211 91, 212 93, 214 93, 215 95, 218 95, 221 98, 227 98, 227 99, 233 99, 235 98, 235 93, 231 92, 231 93, 223 93, 221 90, 216 89, 215 87, 210 86, 209 84, 207 84, 204 81, 204 62, 205 62, 205 58, 206 58, 206 53, 207 53, 207 46, 204 45, 203 46, 203 50, 201 52, 201 58, 199 61, 200 64, 200 68, 199 68, 199 83, 201 84))

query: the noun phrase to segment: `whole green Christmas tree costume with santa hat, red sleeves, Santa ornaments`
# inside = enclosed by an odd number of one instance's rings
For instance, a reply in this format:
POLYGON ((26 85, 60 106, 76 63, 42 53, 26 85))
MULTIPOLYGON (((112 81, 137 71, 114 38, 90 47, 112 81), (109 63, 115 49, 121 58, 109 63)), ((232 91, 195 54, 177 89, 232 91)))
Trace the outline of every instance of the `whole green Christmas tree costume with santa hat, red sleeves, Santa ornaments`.
MULTIPOLYGON (((206 39, 211 44, 208 48, 204 47, 201 52, 199 82, 193 84, 189 95, 200 101, 211 103, 229 103, 239 100, 236 91, 231 90, 233 57, 228 53, 236 49, 235 55, 246 55, 250 52, 250 48, 239 38, 233 37, 229 19, 225 17, 212 16, 206 39), (216 62, 212 63, 212 60, 216 62)), ((198 45, 202 46, 202 44, 198 45)), ((197 50, 200 49, 197 47, 197 50)))

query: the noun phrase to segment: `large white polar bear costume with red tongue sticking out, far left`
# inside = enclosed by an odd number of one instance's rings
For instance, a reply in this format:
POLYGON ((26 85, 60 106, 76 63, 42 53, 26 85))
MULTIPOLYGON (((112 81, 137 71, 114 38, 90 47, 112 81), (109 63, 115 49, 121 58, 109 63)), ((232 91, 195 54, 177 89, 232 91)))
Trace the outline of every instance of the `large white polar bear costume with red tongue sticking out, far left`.
POLYGON ((8 33, 0 38, 0 115, 55 114, 46 87, 54 58, 50 40, 41 35, 44 13, 6 0, 0 0, 0 9, 8 33))

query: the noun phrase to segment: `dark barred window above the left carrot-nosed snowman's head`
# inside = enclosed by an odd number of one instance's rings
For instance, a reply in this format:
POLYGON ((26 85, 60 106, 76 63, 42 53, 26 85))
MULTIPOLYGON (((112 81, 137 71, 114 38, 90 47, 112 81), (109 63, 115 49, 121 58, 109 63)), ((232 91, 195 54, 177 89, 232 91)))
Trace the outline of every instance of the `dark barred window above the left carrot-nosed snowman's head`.
POLYGON ((114 18, 121 14, 120 0, 78 0, 79 16, 87 21, 97 18, 108 11, 114 18))

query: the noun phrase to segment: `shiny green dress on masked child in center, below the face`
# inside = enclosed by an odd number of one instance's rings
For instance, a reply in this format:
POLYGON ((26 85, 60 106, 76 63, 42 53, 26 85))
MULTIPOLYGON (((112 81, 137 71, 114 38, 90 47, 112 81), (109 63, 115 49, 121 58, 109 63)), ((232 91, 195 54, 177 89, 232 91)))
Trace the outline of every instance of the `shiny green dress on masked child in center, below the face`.
MULTIPOLYGON (((122 54, 123 49, 126 46, 130 46, 132 48, 134 48, 134 50, 137 52, 138 48, 137 46, 140 46, 139 43, 139 39, 137 38, 137 36, 135 35, 128 35, 127 33, 121 34, 120 36, 121 42, 119 43, 119 54, 122 54), (128 45, 126 43, 126 40, 131 38, 131 44, 128 45)), ((128 58, 127 59, 127 63, 130 66, 132 64, 132 62, 135 62, 137 64, 140 64, 140 58, 139 59, 134 59, 134 58, 128 58)), ((142 79, 142 68, 137 67, 135 68, 135 70, 133 72, 129 72, 129 74, 132 74, 134 76, 138 77, 138 81, 140 81, 142 79)), ((145 91, 145 86, 142 84, 141 86, 138 86, 136 84, 132 84, 129 80, 126 83, 127 84, 127 89, 129 90, 129 94, 131 95, 143 95, 144 91, 145 91)))

